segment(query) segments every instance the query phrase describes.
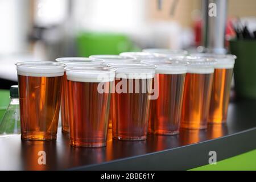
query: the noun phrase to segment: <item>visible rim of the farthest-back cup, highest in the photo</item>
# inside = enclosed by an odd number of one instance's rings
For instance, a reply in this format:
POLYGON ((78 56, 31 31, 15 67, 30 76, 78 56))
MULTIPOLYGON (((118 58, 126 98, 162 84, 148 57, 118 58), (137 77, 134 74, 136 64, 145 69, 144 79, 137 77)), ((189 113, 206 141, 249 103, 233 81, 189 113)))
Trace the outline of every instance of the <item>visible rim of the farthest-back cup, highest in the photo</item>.
POLYGON ((183 49, 148 48, 148 49, 143 49, 142 52, 165 54, 168 57, 185 56, 188 54, 188 51, 185 51, 183 49))

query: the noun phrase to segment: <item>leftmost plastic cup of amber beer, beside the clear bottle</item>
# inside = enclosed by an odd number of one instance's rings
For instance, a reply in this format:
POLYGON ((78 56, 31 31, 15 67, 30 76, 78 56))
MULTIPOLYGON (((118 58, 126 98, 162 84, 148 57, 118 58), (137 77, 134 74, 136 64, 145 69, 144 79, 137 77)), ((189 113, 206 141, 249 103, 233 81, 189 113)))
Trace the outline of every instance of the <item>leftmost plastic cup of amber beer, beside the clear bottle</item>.
POLYGON ((19 83, 21 138, 55 140, 65 64, 35 61, 15 65, 19 83))

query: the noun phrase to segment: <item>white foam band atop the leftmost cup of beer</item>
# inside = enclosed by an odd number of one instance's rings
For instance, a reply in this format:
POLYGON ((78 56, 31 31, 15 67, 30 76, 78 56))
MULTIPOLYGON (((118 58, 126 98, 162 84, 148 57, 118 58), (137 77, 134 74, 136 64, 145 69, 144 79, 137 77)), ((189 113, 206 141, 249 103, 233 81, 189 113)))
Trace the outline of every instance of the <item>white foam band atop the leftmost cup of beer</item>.
POLYGON ((55 77, 64 75, 64 63, 53 61, 26 61, 15 64, 18 75, 34 77, 55 77))

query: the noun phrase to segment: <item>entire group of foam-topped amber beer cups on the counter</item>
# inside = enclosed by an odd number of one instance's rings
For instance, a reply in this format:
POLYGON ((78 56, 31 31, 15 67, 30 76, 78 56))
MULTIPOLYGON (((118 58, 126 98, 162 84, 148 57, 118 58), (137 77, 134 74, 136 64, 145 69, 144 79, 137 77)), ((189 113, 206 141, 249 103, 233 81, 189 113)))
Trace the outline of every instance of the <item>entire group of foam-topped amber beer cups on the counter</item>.
POLYGON ((226 121, 234 55, 146 49, 16 63, 22 139, 56 139, 59 111, 72 146, 175 135, 226 121))

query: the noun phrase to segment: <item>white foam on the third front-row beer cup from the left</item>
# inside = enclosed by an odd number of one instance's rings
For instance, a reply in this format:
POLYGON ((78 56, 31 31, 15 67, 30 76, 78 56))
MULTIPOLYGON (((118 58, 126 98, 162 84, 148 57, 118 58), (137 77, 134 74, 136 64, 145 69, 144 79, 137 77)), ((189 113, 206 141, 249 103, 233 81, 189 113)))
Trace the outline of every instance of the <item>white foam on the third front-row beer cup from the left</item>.
POLYGON ((116 78, 148 79, 154 78, 156 65, 143 63, 110 63, 108 67, 115 68, 116 78))

